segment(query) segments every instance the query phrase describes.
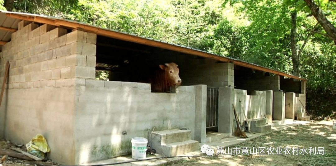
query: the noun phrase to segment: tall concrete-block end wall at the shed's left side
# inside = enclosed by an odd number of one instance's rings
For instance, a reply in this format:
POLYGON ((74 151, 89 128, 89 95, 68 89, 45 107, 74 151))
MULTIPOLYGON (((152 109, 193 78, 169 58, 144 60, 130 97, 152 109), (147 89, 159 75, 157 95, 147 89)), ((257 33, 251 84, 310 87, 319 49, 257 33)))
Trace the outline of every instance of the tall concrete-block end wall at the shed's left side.
POLYGON ((17 144, 36 134, 47 139, 48 157, 75 164, 76 78, 95 77, 94 34, 22 21, 0 53, 0 81, 10 63, 0 108, 0 136, 17 144))

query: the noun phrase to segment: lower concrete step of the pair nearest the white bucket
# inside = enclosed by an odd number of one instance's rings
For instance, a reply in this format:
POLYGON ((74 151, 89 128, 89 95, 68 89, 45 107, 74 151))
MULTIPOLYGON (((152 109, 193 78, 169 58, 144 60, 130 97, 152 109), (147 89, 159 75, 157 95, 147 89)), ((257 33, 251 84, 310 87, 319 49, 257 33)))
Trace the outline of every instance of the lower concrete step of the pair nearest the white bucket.
POLYGON ((195 140, 187 140, 182 142, 168 143, 155 149, 157 154, 165 156, 179 156, 193 151, 200 150, 199 142, 195 140))

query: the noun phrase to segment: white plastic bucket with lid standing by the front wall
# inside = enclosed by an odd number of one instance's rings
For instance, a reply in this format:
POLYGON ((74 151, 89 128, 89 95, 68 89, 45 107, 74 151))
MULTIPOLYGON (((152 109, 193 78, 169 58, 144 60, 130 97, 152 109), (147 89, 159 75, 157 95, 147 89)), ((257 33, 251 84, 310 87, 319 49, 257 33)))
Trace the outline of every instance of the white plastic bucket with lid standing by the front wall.
POLYGON ((146 158, 148 140, 143 137, 132 138, 132 158, 141 160, 146 158))

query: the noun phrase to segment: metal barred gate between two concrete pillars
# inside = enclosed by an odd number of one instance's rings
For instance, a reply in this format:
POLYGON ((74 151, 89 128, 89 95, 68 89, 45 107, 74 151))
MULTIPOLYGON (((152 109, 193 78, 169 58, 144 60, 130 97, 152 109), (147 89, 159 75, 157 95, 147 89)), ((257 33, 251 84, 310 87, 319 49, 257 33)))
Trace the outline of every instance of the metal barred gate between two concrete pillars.
POLYGON ((218 127, 218 87, 207 87, 207 127, 218 127))

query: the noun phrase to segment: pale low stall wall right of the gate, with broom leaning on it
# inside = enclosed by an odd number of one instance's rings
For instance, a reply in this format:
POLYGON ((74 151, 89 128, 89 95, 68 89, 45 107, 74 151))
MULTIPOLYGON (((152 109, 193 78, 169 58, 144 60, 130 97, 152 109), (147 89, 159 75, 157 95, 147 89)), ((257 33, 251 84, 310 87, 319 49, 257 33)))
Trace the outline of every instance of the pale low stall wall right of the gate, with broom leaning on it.
POLYGON ((266 114, 266 91, 253 91, 247 95, 247 90, 235 89, 234 104, 240 121, 262 118, 266 114))

